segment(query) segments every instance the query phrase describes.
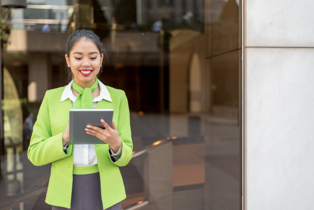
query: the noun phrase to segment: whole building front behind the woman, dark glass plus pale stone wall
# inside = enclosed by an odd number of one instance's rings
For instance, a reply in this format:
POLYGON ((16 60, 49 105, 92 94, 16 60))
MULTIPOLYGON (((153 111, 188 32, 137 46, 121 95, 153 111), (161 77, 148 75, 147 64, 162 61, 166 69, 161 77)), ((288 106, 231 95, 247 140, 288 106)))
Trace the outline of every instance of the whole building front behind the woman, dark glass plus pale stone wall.
MULTIPOLYGON (((123 209, 287 209, 298 203, 289 189, 311 188, 290 170, 308 181, 313 163, 303 152, 314 117, 309 0, 26 2, 0 15, 0 209, 51 209, 50 165, 26 153, 46 90, 68 83, 66 41, 78 29, 101 37, 100 80, 128 97, 134 154, 121 168, 123 209)), ((302 209, 310 195, 297 196, 302 209)))

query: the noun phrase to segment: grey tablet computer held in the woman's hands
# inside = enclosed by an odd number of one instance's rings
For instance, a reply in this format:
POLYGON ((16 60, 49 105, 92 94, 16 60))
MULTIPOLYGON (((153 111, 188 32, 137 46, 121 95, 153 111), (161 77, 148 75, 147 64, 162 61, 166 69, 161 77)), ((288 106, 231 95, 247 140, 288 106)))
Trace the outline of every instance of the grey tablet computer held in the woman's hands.
POLYGON ((112 126, 113 109, 70 109, 69 144, 105 144, 102 140, 86 133, 87 124, 105 128, 104 119, 112 126))

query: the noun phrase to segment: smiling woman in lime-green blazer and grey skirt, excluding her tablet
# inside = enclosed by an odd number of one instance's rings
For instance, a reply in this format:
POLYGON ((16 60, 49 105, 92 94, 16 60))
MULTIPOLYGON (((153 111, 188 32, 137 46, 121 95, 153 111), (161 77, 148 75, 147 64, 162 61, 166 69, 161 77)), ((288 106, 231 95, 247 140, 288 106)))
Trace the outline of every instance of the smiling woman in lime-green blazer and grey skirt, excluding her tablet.
POLYGON ((119 166, 132 157, 130 116, 123 90, 103 85, 99 37, 87 30, 69 36, 65 59, 73 79, 48 90, 38 112, 28 148, 34 165, 51 164, 46 203, 52 209, 121 210, 126 198, 119 166), (112 127, 87 125, 85 130, 106 144, 70 145, 69 109, 113 109, 112 127))

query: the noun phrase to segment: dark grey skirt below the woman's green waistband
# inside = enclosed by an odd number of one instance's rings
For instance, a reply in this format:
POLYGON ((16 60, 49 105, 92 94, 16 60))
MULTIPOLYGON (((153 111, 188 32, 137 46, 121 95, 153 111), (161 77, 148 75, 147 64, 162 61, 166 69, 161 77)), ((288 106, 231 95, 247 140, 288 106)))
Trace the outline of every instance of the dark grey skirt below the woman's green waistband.
MULTIPOLYGON (((105 210, 121 210, 121 202, 105 210)), ((69 208, 52 206, 52 210, 68 210, 69 208)), ((99 173, 73 174, 71 210, 103 210, 99 173)))

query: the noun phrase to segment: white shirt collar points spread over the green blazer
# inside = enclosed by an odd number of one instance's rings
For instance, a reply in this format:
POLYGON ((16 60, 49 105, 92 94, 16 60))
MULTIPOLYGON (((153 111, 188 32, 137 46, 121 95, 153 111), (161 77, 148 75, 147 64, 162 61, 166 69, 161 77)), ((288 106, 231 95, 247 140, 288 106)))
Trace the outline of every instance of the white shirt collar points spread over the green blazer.
MULTIPOLYGON (((67 99, 70 99, 72 102, 75 101, 76 97, 74 96, 72 92, 72 82, 73 80, 63 90, 60 102, 63 102, 67 99)), ((93 102, 99 102, 103 99, 112 102, 112 99, 110 97, 107 87, 100 80, 98 80, 98 85, 100 88, 100 93, 99 93, 99 96, 93 99, 93 102)))

